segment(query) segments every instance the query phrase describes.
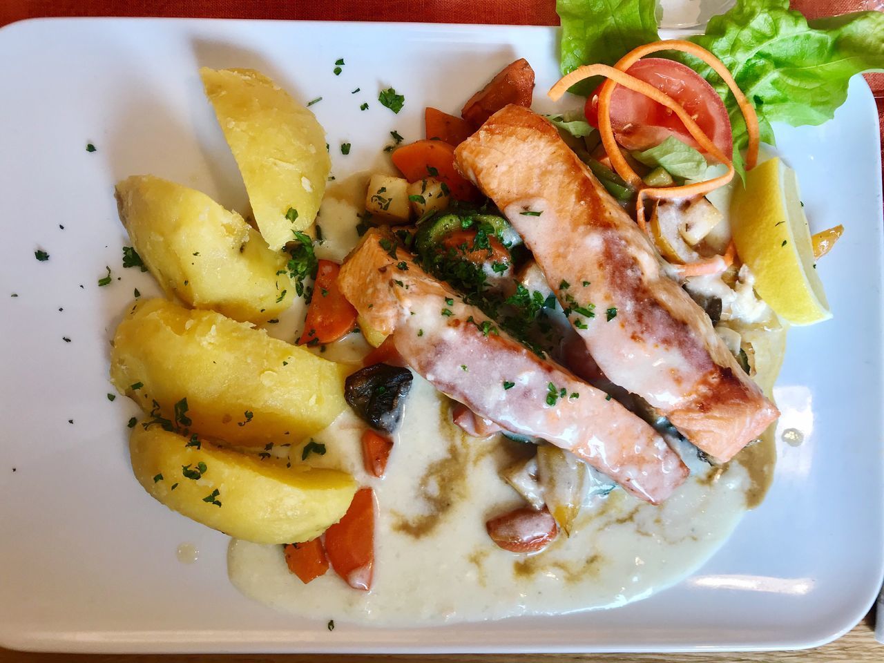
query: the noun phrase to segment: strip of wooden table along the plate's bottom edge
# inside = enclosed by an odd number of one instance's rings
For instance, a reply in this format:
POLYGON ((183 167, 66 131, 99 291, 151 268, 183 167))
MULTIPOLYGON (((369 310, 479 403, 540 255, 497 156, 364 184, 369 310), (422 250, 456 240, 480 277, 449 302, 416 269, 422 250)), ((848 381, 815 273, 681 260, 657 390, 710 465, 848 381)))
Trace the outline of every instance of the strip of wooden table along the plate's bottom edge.
POLYGON ((369 661, 392 661, 392 663, 702 663, 703 661, 728 661, 728 663, 881 663, 884 661, 884 644, 875 642, 873 636, 873 613, 860 621, 853 630, 834 643, 818 649, 798 652, 758 653, 702 653, 702 654, 511 654, 499 655, 437 655, 437 656, 352 656, 315 654, 193 654, 188 656, 131 656, 113 654, 39 654, 11 652, 0 649, 0 663, 157 663, 187 661, 187 663, 369 663, 369 661))

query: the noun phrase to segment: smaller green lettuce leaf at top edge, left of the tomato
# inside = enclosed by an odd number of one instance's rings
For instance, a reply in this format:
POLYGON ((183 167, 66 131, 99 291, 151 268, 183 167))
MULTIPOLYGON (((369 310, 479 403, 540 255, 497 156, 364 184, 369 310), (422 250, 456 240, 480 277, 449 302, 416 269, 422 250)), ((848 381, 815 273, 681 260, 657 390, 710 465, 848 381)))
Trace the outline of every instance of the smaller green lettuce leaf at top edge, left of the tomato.
MULTIPOLYGON (((659 40, 656 0, 556 0, 561 19, 562 74, 597 62, 613 65, 627 52, 659 40)), ((583 80, 571 92, 588 96, 601 80, 583 80)))

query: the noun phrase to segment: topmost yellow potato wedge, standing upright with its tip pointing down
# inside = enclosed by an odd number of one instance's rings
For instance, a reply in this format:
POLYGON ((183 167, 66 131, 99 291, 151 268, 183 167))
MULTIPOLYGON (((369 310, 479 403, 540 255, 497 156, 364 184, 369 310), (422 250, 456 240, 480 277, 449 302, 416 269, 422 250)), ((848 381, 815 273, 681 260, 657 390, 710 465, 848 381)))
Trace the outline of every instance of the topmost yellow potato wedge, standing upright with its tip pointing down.
POLYGON ((258 230, 270 248, 283 248, 293 231, 313 223, 323 199, 331 170, 324 129, 262 73, 203 67, 200 75, 246 183, 258 230))

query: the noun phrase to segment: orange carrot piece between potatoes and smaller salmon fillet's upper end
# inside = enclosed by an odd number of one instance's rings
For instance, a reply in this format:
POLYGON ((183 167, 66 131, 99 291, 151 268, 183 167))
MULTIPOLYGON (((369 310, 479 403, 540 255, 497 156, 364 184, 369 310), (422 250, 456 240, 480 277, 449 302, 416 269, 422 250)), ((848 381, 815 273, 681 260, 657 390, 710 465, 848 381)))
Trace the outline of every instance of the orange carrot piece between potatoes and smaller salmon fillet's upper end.
POLYGON ((340 265, 320 260, 316 268, 313 299, 299 345, 331 343, 346 336, 356 326, 356 309, 338 287, 340 265))

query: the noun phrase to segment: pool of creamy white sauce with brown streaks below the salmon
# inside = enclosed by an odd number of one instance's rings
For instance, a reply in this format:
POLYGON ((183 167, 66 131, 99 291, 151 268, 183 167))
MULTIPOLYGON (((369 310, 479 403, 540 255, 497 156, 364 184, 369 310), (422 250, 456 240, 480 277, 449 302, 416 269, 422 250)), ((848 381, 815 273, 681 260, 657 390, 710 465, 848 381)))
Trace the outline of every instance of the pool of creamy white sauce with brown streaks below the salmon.
MULTIPOLYGON (((692 476, 660 507, 615 490, 584 508, 570 538, 560 534, 533 556, 505 552, 492 543, 484 523, 522 504, 499 477, 514 460, 511 450, 520 447, 500 436, 463 435, 443 418, 441 398, 415 377, 384 479, 362 471, 362 424, 354 415, 341 415, 316 437, 328 450, 316 465, 347 469, 375 488, 370 592, 351 589, 333 571, 305 585, 286 568, 282 546, 244 541, 230 546, 232 583, 287 613, 377 625, 622 606, 697 568, 745 509, 748 474, 731 463, 708 483, 709 475, 692 476)), ((300 457, 300 447, 292 455, 300 457)))

